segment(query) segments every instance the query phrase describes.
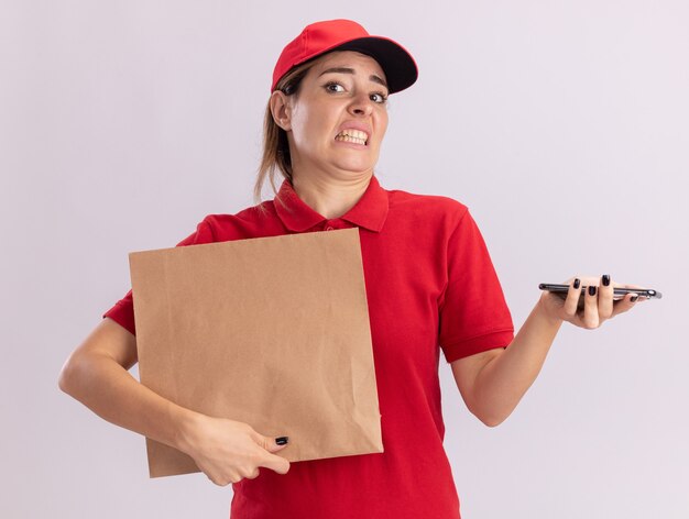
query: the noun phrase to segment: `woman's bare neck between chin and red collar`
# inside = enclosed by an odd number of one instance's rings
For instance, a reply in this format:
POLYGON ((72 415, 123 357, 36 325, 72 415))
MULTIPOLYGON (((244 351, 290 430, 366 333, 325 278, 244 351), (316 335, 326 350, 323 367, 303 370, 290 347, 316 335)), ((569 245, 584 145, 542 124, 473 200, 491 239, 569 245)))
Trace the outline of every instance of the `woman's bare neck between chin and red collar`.
POLYGON ((293 187, 299 198, 314 211, 332 220, 346 214, 363 196, 371 174, 337 180, 333 178, 309 177, 303 173, 293 176, 293 187))

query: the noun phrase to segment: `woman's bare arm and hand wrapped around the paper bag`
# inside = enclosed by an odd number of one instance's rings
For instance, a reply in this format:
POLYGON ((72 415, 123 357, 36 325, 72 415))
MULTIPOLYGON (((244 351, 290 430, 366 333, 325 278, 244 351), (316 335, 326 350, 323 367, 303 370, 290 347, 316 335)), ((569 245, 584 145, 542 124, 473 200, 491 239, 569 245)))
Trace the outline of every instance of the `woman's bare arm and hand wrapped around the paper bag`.
POLYGON ((259 466, 281 474, 289 463, 272 454, 276 445, 243 422, 211 418, 183 408, 133 378, 136 340, 111 319, 79 345, 59 374, 59 388, 101 418, 190 455, 216 484, 256 477, 259 466))

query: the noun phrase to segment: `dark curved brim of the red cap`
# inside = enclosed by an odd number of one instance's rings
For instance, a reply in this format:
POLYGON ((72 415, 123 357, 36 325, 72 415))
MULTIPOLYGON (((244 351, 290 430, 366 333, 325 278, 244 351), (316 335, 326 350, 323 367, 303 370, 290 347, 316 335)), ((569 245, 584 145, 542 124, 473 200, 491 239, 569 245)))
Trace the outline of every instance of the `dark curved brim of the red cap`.
POLYGON ((328 52, 356 51, 374 58, 385 73, 390 93, 409 88, 418 77, 412 55, 400 44, 381 36, 359 37, 328 52))

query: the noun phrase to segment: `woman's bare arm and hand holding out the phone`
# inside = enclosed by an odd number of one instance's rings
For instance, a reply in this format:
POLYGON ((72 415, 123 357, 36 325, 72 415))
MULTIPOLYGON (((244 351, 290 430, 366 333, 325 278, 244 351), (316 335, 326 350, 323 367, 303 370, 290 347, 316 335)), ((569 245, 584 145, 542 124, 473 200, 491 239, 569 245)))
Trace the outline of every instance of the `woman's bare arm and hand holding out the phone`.
MULTIPOLYGON (((597 285, 598 279, 587 278, 584 281, 597 285)), ((613 284, 609 284, 601 285, 594 295, 587 294, 584 308, 578 311, 581 289, 579 286, 573 288, 571 280, 569 285, 564 301, 549 292, 542 295, 505 350, 490 350, 452 362, 452 374, 467 407, 486 426, 502 423, 516 408, 538 376, 564 321, 594 329, 635 303, 631 295, 613 302, 613 284)))

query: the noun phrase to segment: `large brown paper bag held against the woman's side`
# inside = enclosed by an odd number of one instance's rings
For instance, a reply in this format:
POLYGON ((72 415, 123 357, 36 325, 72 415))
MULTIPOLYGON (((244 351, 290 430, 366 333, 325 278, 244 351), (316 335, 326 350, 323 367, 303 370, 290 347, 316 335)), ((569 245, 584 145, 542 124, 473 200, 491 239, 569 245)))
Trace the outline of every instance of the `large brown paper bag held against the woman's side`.
MULTIPOLYGON (((291 462, 383 452, 358 229, 130 254, 141 383, 289 437, 291 462)), ((199 472, 146 439, 151 477, 199 472)))

